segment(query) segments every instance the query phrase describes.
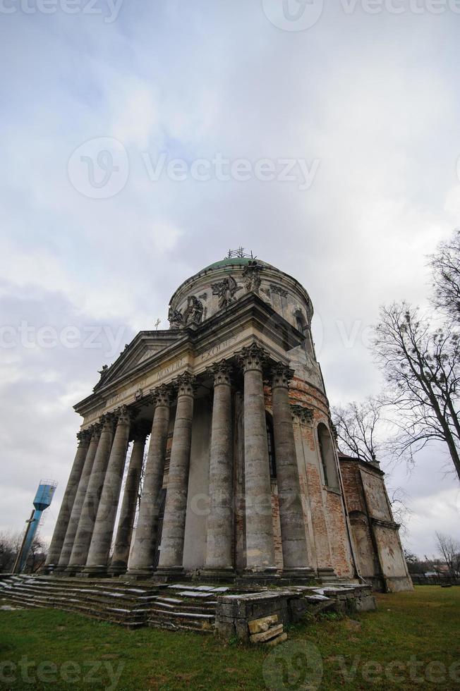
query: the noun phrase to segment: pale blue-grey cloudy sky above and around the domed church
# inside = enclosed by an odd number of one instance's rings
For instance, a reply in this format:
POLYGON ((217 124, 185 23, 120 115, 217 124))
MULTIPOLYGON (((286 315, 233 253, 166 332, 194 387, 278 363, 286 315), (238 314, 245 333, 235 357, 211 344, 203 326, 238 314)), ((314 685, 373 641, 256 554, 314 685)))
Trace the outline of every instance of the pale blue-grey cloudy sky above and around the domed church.
MULTIPOLYGON (((460 225, 460 6, 2 0, 0 14, 0 530, 23 527, 50 477, 51 537, 73 404, 229 248, 310 293, 332 403, 377 392, 378 307, 425 305, 426 255, 460 225)), ((446 462, 432 448, 389 479, 418 554, 458 531, 446 462)))

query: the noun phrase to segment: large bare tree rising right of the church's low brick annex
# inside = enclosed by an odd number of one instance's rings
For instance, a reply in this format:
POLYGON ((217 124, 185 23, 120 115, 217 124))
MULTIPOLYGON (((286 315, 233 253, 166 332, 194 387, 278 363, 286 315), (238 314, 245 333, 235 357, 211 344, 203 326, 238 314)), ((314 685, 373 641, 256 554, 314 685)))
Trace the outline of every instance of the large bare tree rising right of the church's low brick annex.
POLYGON ((394 302, 380 310, 373 350, 397 410, 397 455, 444 441, 460 479, 459 335, 448 324, 433 330, 418 308, 394 302))

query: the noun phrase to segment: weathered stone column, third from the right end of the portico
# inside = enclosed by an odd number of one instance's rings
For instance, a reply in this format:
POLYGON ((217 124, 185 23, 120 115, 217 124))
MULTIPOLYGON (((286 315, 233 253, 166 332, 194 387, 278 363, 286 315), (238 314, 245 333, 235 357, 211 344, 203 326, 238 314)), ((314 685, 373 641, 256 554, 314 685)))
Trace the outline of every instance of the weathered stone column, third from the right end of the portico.
POLYGON ((207 518, 205 575, 222 578, 233 565, 233 434, 230 366, 222 360, 214 374, 210 447, 210 515, 207 518))

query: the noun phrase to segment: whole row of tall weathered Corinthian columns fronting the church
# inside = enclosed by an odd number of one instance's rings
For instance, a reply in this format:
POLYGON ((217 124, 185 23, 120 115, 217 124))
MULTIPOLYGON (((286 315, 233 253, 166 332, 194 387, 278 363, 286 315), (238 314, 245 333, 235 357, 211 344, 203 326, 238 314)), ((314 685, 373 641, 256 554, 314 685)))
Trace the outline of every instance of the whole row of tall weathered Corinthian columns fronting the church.
MULTIPOLYGON (((246 496, 246 571, 260 577, 276 573, 271 481, 267 444, 263 373, 270 367, 274 450, 277 461, 279 520, 284 573, 302 575, 308 569, 301 488, 296 462, 289 380, 292 370, 270 365, 266 351, 253 343, 238 353, 244 379, 244 482, 246 496)), ((234 573, 234 441, 231 372, 234 362, 221 361, 210 370, 214 379, 210 440, 210 508, 207 517, 204 574, 228 577, 234 573)), ((121 574, 145 578, 176 577, 183 573, 183 544, 188 504, 188 474, 193 425, 195 378, 181 374, 173 384, 152 391, 151 430, 138 427, 130 408, 122 406, 103 415, 78 435, 78 449, 68 479, 45 568, 68 575, 121 574), (171 405, 176 417, 164 506, 159 563, 154 566, 159 509, 171 405), (133 522, 145 441, 150 443, 145 463, 138 524, 131 546, 133 522), (130 466, 114 542, 116 513, 133 439, 130 466), (131 552, 131 558, 128 556, 131 552), (129 561, 129 563, 128 563, 129 561)))

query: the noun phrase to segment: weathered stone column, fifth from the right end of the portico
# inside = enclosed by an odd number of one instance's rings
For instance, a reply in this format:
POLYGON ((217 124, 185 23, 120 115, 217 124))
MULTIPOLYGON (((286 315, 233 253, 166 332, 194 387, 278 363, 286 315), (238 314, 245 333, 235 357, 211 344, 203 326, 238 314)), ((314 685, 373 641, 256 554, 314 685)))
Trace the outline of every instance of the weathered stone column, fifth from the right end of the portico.
POLYGON ((169 428, 169 405, 171 403, 169 386, 159 386, 152 393, 155 412, 145 462, 138 525, 135 528, 133 551, 128 565, 128 576, 134 578, 148 578, 153 573, 159 496, 163 486, 164 459, 169 428))

